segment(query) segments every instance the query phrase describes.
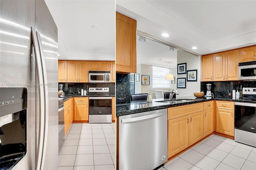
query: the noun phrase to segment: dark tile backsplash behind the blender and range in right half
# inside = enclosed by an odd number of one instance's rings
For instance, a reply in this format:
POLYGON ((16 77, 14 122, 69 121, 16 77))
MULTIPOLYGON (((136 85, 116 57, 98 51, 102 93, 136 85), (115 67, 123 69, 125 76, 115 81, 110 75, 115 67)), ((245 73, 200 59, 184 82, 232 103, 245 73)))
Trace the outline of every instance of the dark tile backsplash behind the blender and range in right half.
POLYGON ((228 91, 240 90, 240 87, 256 87, 256 81, 216 81, 216 82, 201 82, 201 91, 206 94, 206 84, 212 84, 212 93, 216 98, 228 98, 228 91))

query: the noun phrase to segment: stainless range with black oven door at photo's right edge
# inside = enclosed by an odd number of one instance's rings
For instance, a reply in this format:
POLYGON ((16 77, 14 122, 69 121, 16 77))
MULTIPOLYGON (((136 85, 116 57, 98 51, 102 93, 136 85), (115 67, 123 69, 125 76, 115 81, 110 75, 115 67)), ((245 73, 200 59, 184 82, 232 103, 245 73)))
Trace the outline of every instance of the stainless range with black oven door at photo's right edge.
POLYGON ((235 141, 256 147, 256 87, 244 87, 235 100, 235 141))

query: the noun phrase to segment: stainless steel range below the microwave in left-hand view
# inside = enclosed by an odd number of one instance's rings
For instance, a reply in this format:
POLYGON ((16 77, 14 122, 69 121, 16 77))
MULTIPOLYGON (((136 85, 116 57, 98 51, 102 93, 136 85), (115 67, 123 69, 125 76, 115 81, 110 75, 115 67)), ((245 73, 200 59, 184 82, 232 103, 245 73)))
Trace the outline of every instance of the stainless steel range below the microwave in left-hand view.
POLYGON ((89 123, 112 123, 112 96, 108 87, 89 88, 89 123))

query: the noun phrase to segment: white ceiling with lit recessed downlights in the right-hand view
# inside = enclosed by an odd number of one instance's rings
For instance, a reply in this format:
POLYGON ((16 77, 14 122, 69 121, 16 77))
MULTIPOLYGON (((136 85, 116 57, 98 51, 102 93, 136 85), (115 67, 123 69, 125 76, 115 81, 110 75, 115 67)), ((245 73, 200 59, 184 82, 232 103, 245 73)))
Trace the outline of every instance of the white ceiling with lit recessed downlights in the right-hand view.
POLYGON ((116 0, 116 4, 118 12, 137 20, 137 30, 201 55, 256 44, 256 0, 116 0), (170 36, 162 37, 163 32, 170 36))

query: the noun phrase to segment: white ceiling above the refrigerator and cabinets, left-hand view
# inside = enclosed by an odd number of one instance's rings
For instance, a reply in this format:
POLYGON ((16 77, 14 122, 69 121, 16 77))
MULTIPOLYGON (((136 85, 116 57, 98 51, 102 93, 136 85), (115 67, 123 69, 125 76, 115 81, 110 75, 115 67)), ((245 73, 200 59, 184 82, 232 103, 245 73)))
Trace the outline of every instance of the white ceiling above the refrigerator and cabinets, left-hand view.
POLYGON ((45 2, 58 27, 59 59, 115 60, 115 0, 45 2))

